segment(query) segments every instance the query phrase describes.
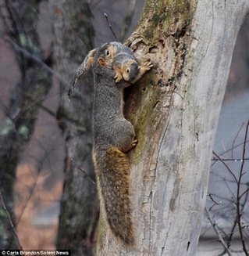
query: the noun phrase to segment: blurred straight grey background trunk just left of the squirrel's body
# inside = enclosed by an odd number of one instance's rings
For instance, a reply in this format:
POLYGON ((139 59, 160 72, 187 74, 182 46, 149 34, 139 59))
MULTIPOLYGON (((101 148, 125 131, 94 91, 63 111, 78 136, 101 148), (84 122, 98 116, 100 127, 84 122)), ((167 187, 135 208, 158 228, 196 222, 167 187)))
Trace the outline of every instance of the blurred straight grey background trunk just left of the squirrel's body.
POLYGON ((98 224, 96 187, 76 167, 94 178, 91 161, 91 108, 93 81, 80 79, 69 103, 69 81, 82 59, 93 49, 94 29, 91 10, 82 0, 51 0, 54 17, 55 61, 64 83, 58 120, 66 140, 65 182, 59 216, 58 249, 71 250, 72 255, 91 255, 95 228, 98 224), (71 159, 73 158, 74 164, 71 159))

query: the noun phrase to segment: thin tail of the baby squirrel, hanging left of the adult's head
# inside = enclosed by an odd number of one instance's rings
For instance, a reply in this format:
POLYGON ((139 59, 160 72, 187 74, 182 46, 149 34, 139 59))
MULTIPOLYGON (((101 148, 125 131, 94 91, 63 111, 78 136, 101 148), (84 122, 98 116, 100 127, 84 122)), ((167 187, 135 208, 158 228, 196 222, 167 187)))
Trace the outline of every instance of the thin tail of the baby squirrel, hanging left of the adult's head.
POLYGON ((80 79, 80 77, 83 74, 85 74, 87 72, 87 70, 89 70, 92 67, 92 65, 94 63, 94 56, 95 56, 96 52, 97 52, 97 49, 91 50, 87 54, 86 58, 84 59, 84 62, 81 63, 80 67, 76 70, 76 73, 74 74, 73 79, 70 82, 69 91, 67 93, 69 99, 72 96, 73 89, 75 88, 77 81, 80 79))

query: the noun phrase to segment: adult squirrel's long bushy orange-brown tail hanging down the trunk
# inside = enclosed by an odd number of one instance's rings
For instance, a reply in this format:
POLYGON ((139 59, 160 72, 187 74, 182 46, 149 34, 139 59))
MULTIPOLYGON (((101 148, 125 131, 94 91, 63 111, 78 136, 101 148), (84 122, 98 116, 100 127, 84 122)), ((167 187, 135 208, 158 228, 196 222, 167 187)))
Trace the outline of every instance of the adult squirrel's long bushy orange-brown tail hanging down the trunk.
POLYGON ((105 217, 112 233, 128 247, 135 246, 130 202, 130 167, 126 154, 115 147, 94 156, 98 189, 105 217))

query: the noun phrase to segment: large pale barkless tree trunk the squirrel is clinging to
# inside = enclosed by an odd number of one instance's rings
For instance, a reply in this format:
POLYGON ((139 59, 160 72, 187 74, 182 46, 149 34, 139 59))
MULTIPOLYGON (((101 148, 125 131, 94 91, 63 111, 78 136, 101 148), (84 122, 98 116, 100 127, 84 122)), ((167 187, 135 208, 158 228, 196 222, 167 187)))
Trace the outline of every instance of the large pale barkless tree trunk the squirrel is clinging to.
POLYGON ((101 219, 99 255, 194 255, 212 146, 247 0, 147 1, 127 42, 154 70, 129 91, 126 113, 137 248, 112 240, 101 219))

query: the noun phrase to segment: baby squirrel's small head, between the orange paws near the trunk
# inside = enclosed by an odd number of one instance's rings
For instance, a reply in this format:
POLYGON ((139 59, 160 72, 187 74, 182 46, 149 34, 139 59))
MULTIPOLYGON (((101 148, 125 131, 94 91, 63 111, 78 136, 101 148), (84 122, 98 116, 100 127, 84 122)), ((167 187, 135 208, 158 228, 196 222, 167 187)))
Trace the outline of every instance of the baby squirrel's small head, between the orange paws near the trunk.
POLYGON ((121 74, 125 81, 133 81, 137 77, 140 70, 140 65, 135 59, 126 59, 121 63, 121 74))

